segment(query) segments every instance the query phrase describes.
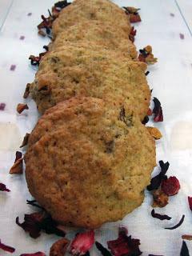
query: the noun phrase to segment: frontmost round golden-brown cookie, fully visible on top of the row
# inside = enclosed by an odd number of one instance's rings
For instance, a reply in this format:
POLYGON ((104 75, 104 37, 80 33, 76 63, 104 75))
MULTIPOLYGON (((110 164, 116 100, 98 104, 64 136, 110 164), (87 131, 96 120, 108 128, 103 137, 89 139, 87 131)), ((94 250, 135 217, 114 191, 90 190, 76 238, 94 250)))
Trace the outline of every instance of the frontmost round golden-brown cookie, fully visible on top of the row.
POLYGON ((25 155, 30 193, 59 223, 97 228, 141 205, 155 166, 154 139, 137 116, 98 98, 50 108, 25 155))

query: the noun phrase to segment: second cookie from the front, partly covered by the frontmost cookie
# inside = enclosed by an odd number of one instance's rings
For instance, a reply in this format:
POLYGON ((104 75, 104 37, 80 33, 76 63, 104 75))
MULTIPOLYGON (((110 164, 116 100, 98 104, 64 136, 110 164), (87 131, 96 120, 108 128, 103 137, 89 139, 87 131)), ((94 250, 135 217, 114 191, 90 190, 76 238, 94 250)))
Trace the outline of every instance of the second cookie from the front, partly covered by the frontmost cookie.
POLYGON ((40 113, 71 97, 90 96, 125 105, 142 120, 150 105, 145 70, 144 62, 111 50, 62 46, 42 58, 30 94, 40 113))

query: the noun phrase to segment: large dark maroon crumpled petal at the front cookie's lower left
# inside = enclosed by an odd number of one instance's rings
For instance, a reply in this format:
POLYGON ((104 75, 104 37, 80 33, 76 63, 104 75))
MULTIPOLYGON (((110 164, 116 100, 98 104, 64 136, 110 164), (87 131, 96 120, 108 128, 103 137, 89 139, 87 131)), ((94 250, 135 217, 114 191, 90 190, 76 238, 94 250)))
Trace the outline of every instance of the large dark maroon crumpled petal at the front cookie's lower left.
POLYGON ((58 229, 58 224, 45 211, 36 212, 34 214, 25 214, 24 222, 20 223, 18 217, 16 223, 21 226, 23 230, 30 233, 31 238, 38 238, 40 231, 43 230, 46 234, 57 234, 58 236, 65 236, 63 230, 58 229))

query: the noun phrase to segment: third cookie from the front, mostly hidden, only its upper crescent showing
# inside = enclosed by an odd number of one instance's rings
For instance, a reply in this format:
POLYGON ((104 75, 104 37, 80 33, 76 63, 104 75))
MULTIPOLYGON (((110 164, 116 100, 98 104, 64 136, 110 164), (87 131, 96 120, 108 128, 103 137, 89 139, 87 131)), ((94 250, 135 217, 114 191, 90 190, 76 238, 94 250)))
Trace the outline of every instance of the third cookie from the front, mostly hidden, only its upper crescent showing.
POLYGON ((57 35, 49 49, 59 50, 61 46, 67 46, 68 43, 81 46, 85 42, 87 47, 91 49, 119 50, 130 59, 138 56, 136 47, 129 40, 128 34, 123 33, 114 24, 110 25, 99 21, 79 22, 74 26, 67 27, 57 35))

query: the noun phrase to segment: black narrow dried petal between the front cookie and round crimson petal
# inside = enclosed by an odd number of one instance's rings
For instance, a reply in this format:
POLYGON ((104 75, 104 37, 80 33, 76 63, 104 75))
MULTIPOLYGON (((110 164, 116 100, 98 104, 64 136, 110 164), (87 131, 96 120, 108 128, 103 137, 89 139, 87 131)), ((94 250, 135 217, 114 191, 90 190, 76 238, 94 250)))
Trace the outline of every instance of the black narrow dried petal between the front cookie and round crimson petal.
POLYGON ((157 190, 158 187, 161 185, 162 180, 166 179, 166 171, 169 169, 170 163, 159 161, 159 165, 161 167, 161 171, 158 175, 154 178, 151 178, 150 185, 147 186, 147 190, 157 190))

